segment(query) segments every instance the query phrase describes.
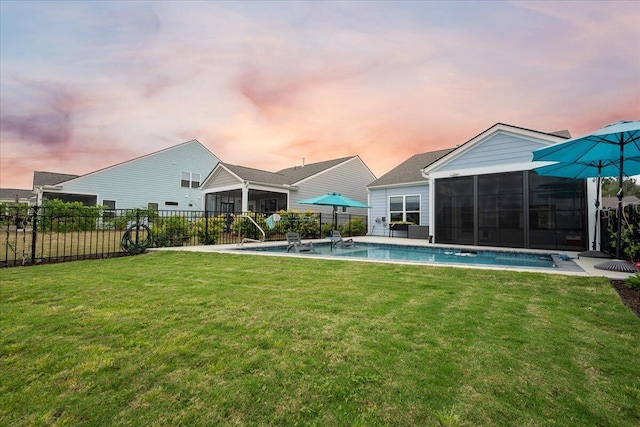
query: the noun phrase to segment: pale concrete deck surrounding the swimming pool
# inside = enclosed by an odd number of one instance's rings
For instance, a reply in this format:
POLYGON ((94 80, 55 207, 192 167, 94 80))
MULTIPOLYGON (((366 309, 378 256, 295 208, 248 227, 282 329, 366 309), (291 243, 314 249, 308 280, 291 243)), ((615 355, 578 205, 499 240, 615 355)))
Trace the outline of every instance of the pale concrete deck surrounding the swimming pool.
MULTIPOLYGON (((307 239, 303 239, 307 241, 307 239)), ((590 276, 590 277, 607 277, 609 279, 626 279, 629 276, 632 276, 631 273, 620 273, 616 271, 605 271, 598 270, 594 266, 596 264, 600 264, 602 262, 607 261, 607 259, 602 258, 585 258, 578 257, 578 252, 570 252, 570 251, 548 251, 548 250, 538 250, 538 249, 521 249, 521 248, 496 248, 496 247, 484 247, 484 246, 460 246, 460 245, 441 245, 429 243, 427 240, 423 239, 407 239, 406 237, 379 237, 379 236, 359 236, 354 237, 353 240, 362 243, 377 243, 377 244, 393 244, 393 245, 406 245, 406 246, 427 246, 427 247, 439 247, 439 248, 464 248, 469 250, 493 250, 493 251, 509 251, 509 252, 526 252, 526 253, 539 253, 545 255, 553 255, 553 254, 565 254, 571 258, 568 262, 563 262, 560 260, 556 260, 559 268, 550 270, 550 269, 536 269, 536 268, 524 268, 524 267, 492 267, 492 266, 480 266, 480 265, 466 265, 466 264, 444 264, 444 263, 424 263, 425 265, 437 265, 437 266, 452 266, 452 267, 464 267, 464 268, 482 268, 482 269, 491 269, 491 270, 509 270, 509 271, 530 271, 537 273, 552 273, 552 274, 566 274, 572 276, 590 276), (572 262, 573 261, 573 262, 572 262), (574 264, 575 262, 575 264, 574 264)), ((325 239, 309 239, 308 241, 314 242, 316 244, 327 243, 325 239)), ((238 254, 237 249, 245 248, 250 249, 252 246, 282 246, 286 244, 286 241, 275 241, 275 242, 262 242, 262 243, 252 243, 247 242, 242 245, 240 244, 228 244, 228 245, 207 245, 207 246, 182 246, 175 248, 157 248, 157 249, 149 249, 149 251, 162 251, 162 250, 179 250, 179 251, 189 251, 189 252, 223 252, 223 253, 236 253, 238 254)), ((255 252, 252 255, 256 254, 255 252)), ((262 254, 256 255, 264 255, 264 256, 299 256, 299 257, 314 257, 313 254, 277 254, 272 252, 265 252, 262 254)), ((318 257, 320 258, 320 257, 318 257)), ((322 257, 323 259, 330 259, 326 257, 322 257)), ((380 260, 367 260, 367 259, 354 259, 354 258, 343 258, 340 260, 354 260, 360 262, 389 262, 389 263, 400 263, 400 264, 411 264, 416 265, 415 262, 402 262, 402 261, 380 261, 380 260)))

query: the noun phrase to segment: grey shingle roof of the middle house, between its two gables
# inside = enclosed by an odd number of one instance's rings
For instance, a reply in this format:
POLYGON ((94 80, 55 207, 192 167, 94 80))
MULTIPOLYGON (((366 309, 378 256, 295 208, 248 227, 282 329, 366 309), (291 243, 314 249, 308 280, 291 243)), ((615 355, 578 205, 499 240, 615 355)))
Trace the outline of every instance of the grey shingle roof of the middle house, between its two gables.
POLYGON ((309 163, 304 166, 294 166, 282 169, 278 172, 269 172, 260 169, 248 168, 245 166, 222 163, 227 169, 238 175, 241 179, 251 182, 261 182, 265 184, 295 184, 305 178, 316 175, 324 170, 337 166, 356 156, 342 157, 340 159, 326 160, 324 162, 309 163))

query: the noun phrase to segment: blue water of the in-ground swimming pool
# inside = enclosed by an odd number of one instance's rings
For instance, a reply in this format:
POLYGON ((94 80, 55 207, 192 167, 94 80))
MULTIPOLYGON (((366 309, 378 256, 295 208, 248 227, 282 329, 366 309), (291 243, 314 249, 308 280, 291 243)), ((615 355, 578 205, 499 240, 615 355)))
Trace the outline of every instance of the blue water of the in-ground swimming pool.
MULTIPOLYGON (((327 257, 366 258, 374 260, 393 260, 406 262, 479 264, 505 267, 557 268, 550 255, 470 250, 461 248, 436 248, 424 246, 401 246, 389 244, 358 243, 353 248, 331 248, 326 244, 315 244, 315 254, 327 257)), ((246 248, 260 252, 286 253, 286 246, 246 248)))

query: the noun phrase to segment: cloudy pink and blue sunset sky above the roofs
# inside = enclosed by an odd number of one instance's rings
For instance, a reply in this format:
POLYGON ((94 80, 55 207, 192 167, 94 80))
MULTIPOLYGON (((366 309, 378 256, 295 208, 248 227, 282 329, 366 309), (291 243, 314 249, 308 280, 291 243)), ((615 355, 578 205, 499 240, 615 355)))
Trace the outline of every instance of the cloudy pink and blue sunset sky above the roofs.
POLYGON ((640 2, 0 2, 0 185, 197 139, 376 176, 497 122, 640 119, 640 2))

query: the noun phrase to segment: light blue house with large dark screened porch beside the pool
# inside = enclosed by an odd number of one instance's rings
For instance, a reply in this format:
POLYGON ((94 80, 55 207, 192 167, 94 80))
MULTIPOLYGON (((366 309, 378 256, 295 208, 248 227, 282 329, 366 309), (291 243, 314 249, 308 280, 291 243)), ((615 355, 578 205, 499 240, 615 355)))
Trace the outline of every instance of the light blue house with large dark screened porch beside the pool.
POLYGON ((498 123, 454 149, 414 156, 368 185, 369 234, 387 235, 391 219, 419 218, 436 243, 586 249, 593 180, 532 171, 534 150, 567 138, 498 123))

